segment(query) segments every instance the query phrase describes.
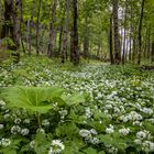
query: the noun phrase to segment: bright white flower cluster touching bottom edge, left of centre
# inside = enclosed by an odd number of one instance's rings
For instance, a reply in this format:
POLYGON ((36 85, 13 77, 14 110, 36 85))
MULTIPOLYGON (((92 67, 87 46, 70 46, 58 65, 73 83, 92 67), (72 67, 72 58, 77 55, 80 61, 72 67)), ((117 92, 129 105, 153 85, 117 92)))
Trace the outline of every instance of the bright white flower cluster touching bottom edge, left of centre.
POLYGON ((59 154, 65 150, 65 145, 61 140, 53 140, 48 154, 59 154))

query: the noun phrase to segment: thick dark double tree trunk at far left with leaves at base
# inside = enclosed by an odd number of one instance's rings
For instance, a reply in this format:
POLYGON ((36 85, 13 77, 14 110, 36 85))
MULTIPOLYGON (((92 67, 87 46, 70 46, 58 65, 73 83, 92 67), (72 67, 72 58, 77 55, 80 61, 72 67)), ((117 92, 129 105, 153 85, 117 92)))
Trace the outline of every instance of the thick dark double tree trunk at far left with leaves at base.
POLYGON ((8 50, 14 51, 12 53, 14 63, 20 61, 20 10, 21 0, 15 0, 15 4, 13 0, 4 0, 4 22, 1 30, 1 38, 10 37, 13 41, 14 44, 9 44, 7 47, 8 50))

